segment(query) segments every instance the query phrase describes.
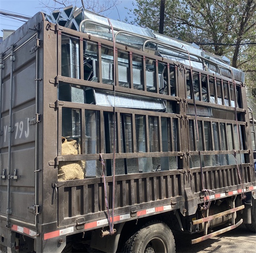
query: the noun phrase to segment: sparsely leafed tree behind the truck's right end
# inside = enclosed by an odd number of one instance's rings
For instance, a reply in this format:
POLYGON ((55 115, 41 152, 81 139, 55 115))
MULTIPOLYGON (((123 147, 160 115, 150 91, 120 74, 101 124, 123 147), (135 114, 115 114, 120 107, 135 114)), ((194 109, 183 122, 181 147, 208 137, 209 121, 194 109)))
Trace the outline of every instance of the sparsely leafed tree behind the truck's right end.
MULTIPOLYGON (((131 23, 157 31, 162 2, 136 0, 131 23)), ((256 0, 165 0, 164 34, 194 41, 215 55, 227 55, 236 68, 248 66, 255 55, 250 45, 242 45, 255 42, 255 29, 256 0)))

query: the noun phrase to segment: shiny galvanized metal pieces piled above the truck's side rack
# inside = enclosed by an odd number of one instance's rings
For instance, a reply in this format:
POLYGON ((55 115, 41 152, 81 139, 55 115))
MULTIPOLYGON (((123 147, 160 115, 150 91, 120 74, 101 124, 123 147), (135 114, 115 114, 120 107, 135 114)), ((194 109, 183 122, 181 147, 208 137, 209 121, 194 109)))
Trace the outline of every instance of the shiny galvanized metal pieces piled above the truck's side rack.
POLYGON ((221 73, 221 75, 230 78, 232 78, 233 73, 236 80, 244 81, 244 72, 229 66, 230 60, 226 57, 205 52, 199 46, 195 45, 195 43, 186 43, 158 34, 148 28, 108 19, 82 7, 68 6, 61 11, 53 11, 51 14, 46 15, 46 20, 108 40, 113 40, 110 29, 113 26, 115 39, 118 43, 123 43, 134 48, 152 49, 164 58, 191 65, 198 69, 205 69, 207 67, 209 72, 221 73), (202 59, 207 59, 207 64, 202 59), (219 66, 218 69, 215 67, 216 64, 219 66))

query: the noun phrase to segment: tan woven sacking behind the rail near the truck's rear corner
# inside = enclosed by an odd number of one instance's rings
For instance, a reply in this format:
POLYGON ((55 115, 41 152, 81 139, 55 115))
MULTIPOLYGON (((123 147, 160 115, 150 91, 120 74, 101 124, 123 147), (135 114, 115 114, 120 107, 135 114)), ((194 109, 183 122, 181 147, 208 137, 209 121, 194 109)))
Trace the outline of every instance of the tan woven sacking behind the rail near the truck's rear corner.
MULTIPOLYGON (((62 137, 61 155, 80 155, 76 140, 62 137)), ((84 178, 85 161, 61 161, 58 166, 58 181, 84 178)))

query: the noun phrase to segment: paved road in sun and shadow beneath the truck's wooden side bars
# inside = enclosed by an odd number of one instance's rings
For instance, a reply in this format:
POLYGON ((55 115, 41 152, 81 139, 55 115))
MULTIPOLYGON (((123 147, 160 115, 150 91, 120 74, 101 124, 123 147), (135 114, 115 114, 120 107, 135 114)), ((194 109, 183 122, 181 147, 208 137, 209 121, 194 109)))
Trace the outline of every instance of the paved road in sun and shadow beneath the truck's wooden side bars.
POLYGON ((256 253, 256 234, 243 224, 197 244, 190 244, 190 240, 198 238, 198 235, 177 233, 174 236, 177 253, 256 253))

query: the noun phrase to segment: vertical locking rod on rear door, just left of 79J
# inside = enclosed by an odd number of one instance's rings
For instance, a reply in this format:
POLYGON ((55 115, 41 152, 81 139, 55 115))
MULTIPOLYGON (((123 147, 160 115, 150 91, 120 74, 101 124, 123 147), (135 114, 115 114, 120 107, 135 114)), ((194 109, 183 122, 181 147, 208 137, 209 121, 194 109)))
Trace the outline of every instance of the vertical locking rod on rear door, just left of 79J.
POLYGON ((10 71, 10 95, 9 95, 9 140, 8 140, 8 167, 7 167, 7 206, 6 206, 6 227, 10 227, 10 214, 12 214, 12 209, 10 208, 10 193, 11 193, 11 151, 12 151, 12 89, 13 89, 13 64, 15 61, 14 57, 15 45, 11 46, 11 71, 10 71))

